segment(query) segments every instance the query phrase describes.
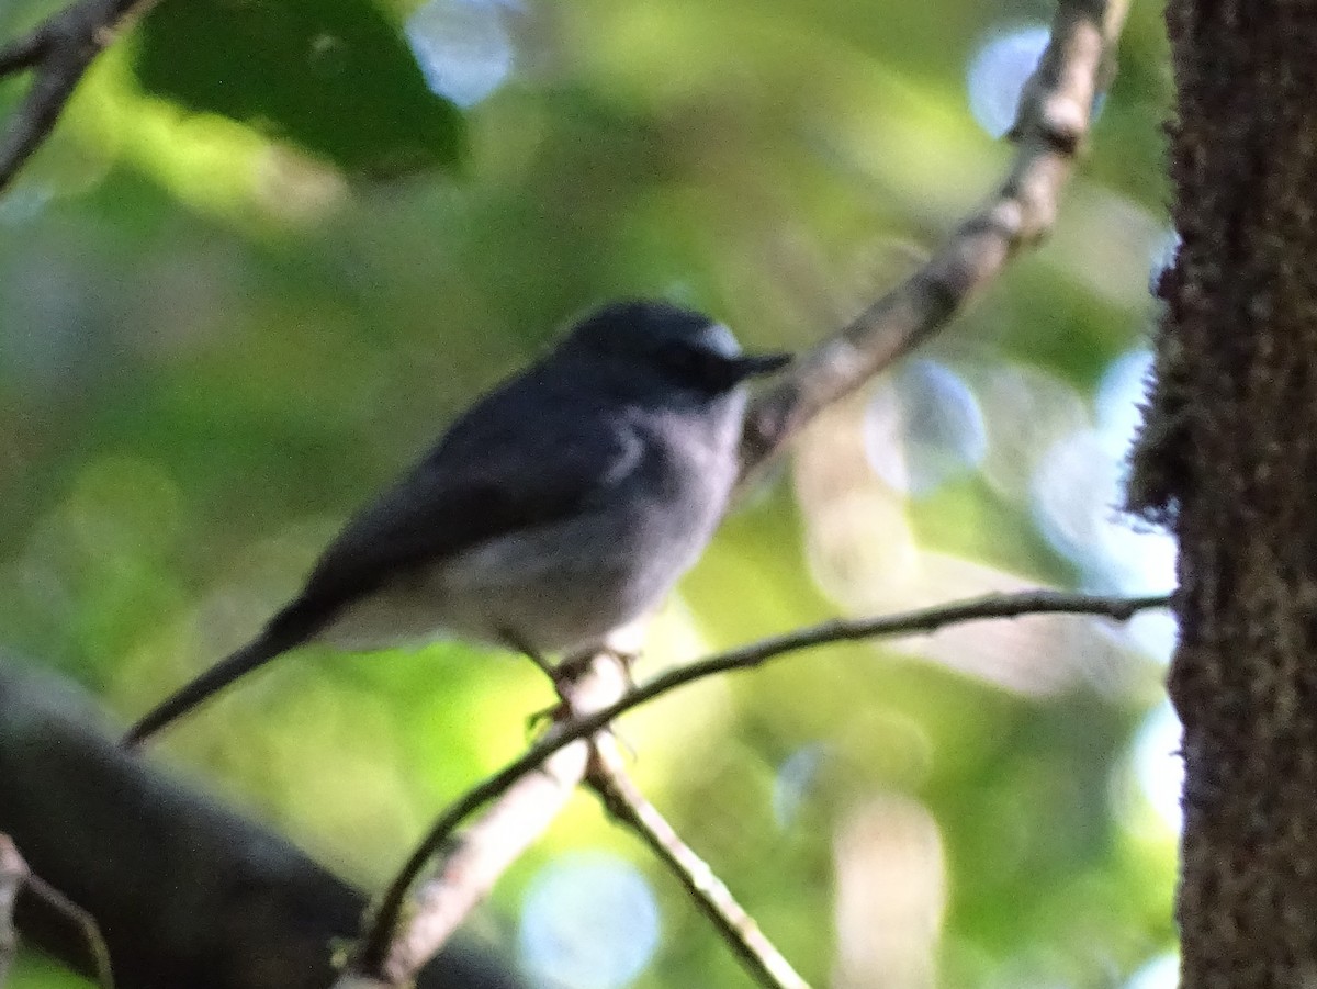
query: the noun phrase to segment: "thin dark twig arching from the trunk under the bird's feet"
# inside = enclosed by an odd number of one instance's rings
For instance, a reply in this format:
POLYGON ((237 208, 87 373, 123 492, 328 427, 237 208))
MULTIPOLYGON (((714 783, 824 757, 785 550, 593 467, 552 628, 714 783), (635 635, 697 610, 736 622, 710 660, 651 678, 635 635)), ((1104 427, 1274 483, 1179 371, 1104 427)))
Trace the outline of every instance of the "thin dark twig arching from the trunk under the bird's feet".
POLYGON ((503 769, 485 778, 449 805, 390 885, 381 909, 375 913, 366 931, 363 955, 367 959, 378 959, 387 953, 387 944, 398 926, 398 918, 406 902, 407 890, 415 884, 416 877, 425 868, 425 864, 440 848, 448 844, 453 832, 468 816, 490 801, 502 797, 527 773, 537 770, 554 752, 603 731, 619 715, 656 697, 698 680, 732 670, 755 669, 778 656, 832 643, 917 635, 934 632, 946 626, 964 622, 1022 618, 1025 615, 1098 615, 1121 622, 1127 620, 1139 611, 1166 607, 1169 602, 1169 595, 1113 598, 1058 591, 989 594, 954 604, 940 604, 938 607, 906 611, 884 618, 824 622, 818 626, 788 632, 786 635, 749 643, 738 649, 731 649, 699 662, 662 673, 593 714, 578 716, 572 722, 554 724, 554 732, 551 736, 541 739, 519 759, 512 760, 503 769))

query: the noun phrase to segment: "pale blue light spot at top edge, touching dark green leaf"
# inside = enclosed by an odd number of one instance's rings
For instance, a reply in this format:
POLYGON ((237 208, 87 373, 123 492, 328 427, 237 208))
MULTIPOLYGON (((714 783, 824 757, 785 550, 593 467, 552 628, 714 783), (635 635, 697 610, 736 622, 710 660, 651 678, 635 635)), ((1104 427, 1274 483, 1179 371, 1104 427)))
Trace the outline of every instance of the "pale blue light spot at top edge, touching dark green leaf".
POLYGON ((407 42, 425 84, 458 107, 473 107, 512 72, 510 17, 515 0, 431 0, 407 20, 407 42))

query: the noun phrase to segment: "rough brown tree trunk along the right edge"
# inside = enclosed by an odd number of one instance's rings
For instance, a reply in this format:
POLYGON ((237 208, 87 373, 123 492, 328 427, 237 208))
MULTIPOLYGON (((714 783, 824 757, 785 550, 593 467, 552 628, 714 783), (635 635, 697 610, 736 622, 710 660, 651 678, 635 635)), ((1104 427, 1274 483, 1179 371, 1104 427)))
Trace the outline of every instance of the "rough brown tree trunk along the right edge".
POLYGON ((1183 238, 1131 503, 1180 539, 1185 989, 1317 984, 1317 4, 1171 0, 1183 238))

